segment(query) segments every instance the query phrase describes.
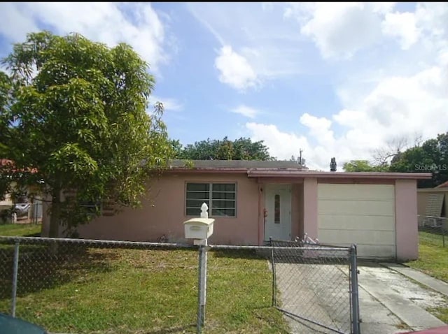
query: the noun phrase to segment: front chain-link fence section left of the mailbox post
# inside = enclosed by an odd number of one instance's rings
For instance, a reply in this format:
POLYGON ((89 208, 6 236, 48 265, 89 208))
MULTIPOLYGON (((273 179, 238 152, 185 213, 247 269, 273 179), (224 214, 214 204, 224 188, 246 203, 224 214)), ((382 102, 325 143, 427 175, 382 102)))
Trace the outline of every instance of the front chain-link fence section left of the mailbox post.
POLYGON ((188 245, 0 237, 0 312, 50 333, 194 333, 196 294, 188 245))

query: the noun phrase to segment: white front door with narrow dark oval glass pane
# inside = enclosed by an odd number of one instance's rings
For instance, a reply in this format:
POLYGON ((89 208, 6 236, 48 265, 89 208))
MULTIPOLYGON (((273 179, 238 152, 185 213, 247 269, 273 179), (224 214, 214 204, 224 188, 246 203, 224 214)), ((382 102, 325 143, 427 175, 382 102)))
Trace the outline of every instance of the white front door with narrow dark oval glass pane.
POLYGON ((289 184, 265 185, 265 240, 290 240, 291 192, 289 184))

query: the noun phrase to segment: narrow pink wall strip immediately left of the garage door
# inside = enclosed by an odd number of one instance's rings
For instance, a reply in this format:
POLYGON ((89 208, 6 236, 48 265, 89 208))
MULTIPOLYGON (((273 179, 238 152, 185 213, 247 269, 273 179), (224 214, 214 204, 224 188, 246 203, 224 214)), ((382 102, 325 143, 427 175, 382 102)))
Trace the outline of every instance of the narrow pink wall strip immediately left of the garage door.
POLYGON ((315 239, 317 230, 317 179, 309 177, 303 182, 303 231, 315 239))

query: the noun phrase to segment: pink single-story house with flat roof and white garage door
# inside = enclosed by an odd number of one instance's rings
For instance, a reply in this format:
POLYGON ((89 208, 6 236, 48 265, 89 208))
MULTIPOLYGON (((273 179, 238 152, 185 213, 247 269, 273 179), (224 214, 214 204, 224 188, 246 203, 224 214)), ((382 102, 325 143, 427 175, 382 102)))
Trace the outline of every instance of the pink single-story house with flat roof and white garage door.
MULTIPOLYGON (((416 180, 430 173, 318 172, 288 161, 173 161, 139 209, 98 217, 81 238, 183 239, 202 203, 216 219, 213 244, 264 245, 307 233, 330 245, 358 245, 366 258, 418 256, 416 180)), ((43 234, 49 217, 44 217, 43 234)))

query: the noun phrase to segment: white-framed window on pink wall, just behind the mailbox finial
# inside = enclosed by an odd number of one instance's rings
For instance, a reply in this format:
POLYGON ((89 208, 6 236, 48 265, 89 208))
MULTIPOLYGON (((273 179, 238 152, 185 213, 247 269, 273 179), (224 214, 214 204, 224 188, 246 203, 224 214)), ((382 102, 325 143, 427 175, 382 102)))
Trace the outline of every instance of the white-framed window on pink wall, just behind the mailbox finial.
POLYGON ((186 186, 186 216, 199 216, 202 203, 211 217, 237 216, 236 183, 193 183, 186 186))

